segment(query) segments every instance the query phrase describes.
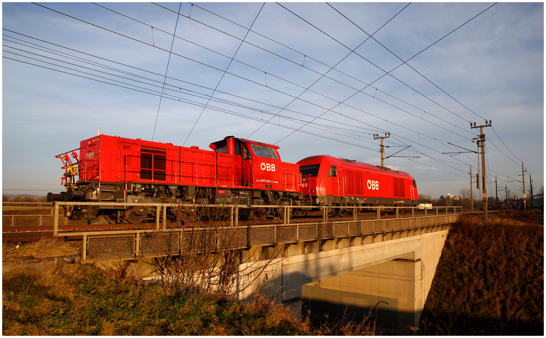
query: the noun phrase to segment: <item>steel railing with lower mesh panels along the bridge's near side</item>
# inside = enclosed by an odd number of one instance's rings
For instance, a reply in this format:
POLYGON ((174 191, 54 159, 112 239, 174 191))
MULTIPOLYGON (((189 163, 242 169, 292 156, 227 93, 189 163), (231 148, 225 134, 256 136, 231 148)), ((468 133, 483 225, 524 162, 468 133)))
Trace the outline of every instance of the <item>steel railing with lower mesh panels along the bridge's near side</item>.
MULTIPOLYGON (((88 253, 91 253, 90 247, 100 247, 100 253, 92 254, 92 260, 118 260, 118 259, 139 259, 168 256, 176 252, 181 252, 187 236, 195 236, 197 234, 200 240, 206 238, 207 231, 214 229, 225 236, 239 235, 238 244, 235 246, 226 246, 229 248, 250 248, 252 246, 271 246, 278 244, 289 244, 306 241, 340 239, 340 238, 355 238, 356 236, 387 234, 396 231, 412 230, 425 227, 442 226, 443 224, 455 223, 459 221, 462 214, 461 207, 432 207, 435 209, 434 215, 427 215, 427 210, 424 209, 424 216, 415 216, 412 209, 412 217, 399 217, 396 212, 395 218, 385 218, 381 220, 379 213, 384 207, 359 207, 365 209, 375 209, 377 219, 357 220, 357 215, 353 215, 352 221, 333 221, 328 222, 328 209, 334 207, 328 206, 286 206, 271 205, 268 207, 283 207, 284 208, 284 223, 283 224, 262 224, 262 225, 242 225, 238 224, 238 210, 240 207, 252 207, 252 205, 197 205, 197 204, 155 204, 155 203, 86 203, 86 202, 55 202, 54 212, 58 213, 58 208, 61 205, 102 205, 102 206, 156 206, 156 223, 153 229, 142 230, 110 230, 110 231, 92 231, 78 232, 78 235, 83 235, 84 250, 82 252, 82 260, 87 261, 88 253), (167 229, 165 220, 166 208, 173 206, 198 206, 198 207, 226 207, 231 209, 229 224, 221 224, 219 226, 197 226, 191 225, 183 228, 167 229), (290 208, 323 209, 322 222, 311 223, 290 223, 290 208), (159 210, 163 210, 162 229, 159 229, 159 210), (444 214, 440 214, 443 209, 444 214), (448 211, 453 210, 453 213, 448 211), (235 216, 235 217, 234 217, 235 216), (235 228, 234 228, 235 227, 235 228), (167 231, 168 230, 168 231, 167 231), (159 233, 165 236, 165 239, 150 238, 150 233, 159 233), (108 236, 111 235, 111 236, 108 236), (115 235, 115 236, 114 236, 115 235), (89 237, 88 236, 93 236, 89 237), (144 240, 144 245, 141 241, 144 240), (117 242, 116 242, 117 241, 117 242), (107 247, 110 246, 110 247, 107 247), (153 247, 150 247, 153 246, 153 247), (120 249, 120 247, 122 247, 120 249), (175 251, 173 251, 173 248, 175 251), (121 250, 121 251, 120 251, 121 250), (159 251, 158 251, 159 250, 159 251), (164 251, 161 251, 164 250, 164 251), (107 253, 108 252, 108 253, 107 253)), ((264 207, 257 205, 256 207, 264 207)), ((347 209, 355 209, 357 207, 345 207, 347 209)), ((402 207, 396 207, 396 211, 402 207)), ((407 208, 402 208, 407 209, 407 208)), ((317 220, 318 221, 318 220, 317 220)), ((132 224, 135 226, 135 224, 132 224)), ((76 235, 76 233, 58 232, 58 218, 54 225, 54 236, 76 235)), ((219 245, 219 244, 218 244, 219 245)))

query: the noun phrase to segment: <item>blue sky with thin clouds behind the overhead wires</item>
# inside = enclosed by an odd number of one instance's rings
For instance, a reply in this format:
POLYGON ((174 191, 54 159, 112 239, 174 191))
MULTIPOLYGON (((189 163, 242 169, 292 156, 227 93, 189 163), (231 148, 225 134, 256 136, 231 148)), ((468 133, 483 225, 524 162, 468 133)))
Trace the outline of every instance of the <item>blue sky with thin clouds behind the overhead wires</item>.
POLYGON ((3 193, 62 191, 55 155, 100 128, 374 165, 387 132, 387 156, 411 147, 385 164, 437 198, 470 188, 477 155, 443 153, 484 119, 488 194, 521 197, 521 162, 538 191, 544 6, 493 4, 3 3, 3 193))

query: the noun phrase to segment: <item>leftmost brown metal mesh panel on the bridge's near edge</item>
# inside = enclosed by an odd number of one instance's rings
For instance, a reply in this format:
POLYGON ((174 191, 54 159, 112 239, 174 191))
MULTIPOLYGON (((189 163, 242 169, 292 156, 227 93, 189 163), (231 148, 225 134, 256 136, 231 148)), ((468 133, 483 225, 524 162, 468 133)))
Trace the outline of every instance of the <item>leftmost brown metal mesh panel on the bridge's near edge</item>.
POLYGON ((87 258, 133 257, 135 236, 104 236, 87 238, 87 258))

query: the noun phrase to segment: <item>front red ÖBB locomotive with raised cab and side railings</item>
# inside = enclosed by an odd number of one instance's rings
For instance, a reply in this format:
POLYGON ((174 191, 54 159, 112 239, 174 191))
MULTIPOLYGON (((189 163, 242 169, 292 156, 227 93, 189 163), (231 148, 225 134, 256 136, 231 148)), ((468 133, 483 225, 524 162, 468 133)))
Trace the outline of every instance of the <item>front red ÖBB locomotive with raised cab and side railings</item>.
MULTIPOLYGON (((49 193, 48 201, 264 205, 240 209, 252 220, 284 215, 268 204, 301 204, 299 166, 282 162, 278 146, 230 136, 210 147, 213 151, 108 135, 83 140, 78 149, 57 156, 67 191, 49 193)), ((171 220, 192 221, 197 214, 195 207, 167 210, 171 220)), ((74 206, 66 215, 141 223, 155 217, 155 207, 74 206)))

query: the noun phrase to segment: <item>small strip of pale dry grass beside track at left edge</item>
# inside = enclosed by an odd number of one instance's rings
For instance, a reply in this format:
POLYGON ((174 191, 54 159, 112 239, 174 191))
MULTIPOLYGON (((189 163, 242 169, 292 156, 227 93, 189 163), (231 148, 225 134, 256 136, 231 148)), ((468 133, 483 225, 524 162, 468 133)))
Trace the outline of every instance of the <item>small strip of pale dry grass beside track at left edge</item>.
POLYGON ((80 252, 79 244, 58 239, 42 238, 35 242, 17 244, 4 242, 2 245, 2 262, 14 262, 21 259, 55 258, 73 256, 80 252))

